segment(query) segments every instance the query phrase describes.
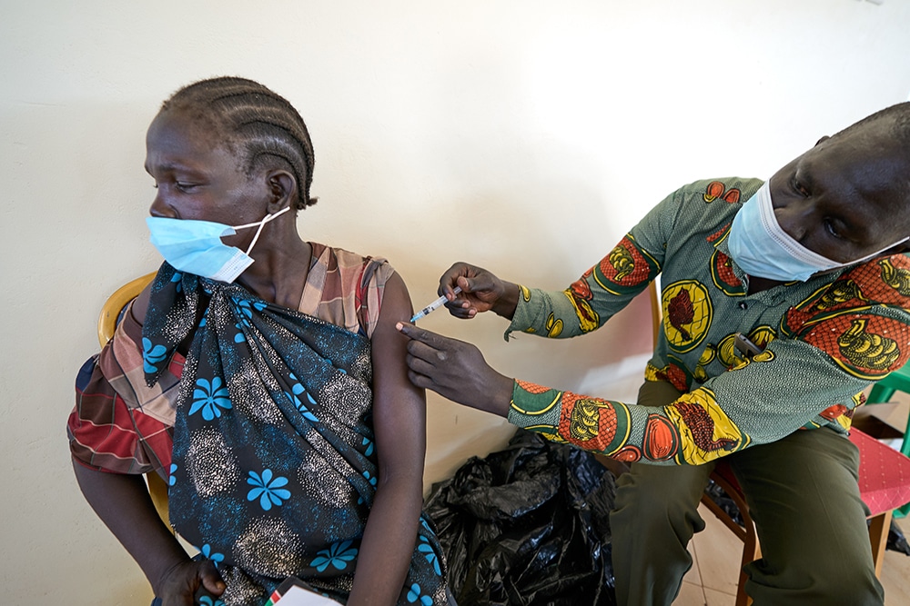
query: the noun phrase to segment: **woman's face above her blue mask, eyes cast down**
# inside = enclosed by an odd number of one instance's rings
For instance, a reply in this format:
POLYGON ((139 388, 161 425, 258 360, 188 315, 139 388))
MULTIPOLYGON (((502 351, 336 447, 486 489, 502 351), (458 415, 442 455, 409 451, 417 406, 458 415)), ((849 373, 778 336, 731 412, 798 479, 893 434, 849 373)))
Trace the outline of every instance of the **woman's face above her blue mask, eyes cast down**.
MULTIPOLYGON (((207 123, 180 110, 158 114, 146 135, 146 172, 157 188, 150 214, 227 225, 259 221, 267 214, 266 180, 248 176, 239 164, 207 123)), ((224 241, 244 248, 251 237, 241 232, 224 241)))

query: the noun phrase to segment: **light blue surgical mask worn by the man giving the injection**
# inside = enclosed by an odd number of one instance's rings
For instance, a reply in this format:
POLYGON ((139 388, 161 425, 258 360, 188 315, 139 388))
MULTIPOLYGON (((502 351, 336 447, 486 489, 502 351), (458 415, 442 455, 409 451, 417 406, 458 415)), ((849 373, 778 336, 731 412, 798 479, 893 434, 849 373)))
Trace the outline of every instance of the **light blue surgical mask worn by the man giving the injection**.
POLYGON ((873 259, 892 246, 906 242, 888 244, 882 250, 867 254, 862 259, 849 263, 832 261, 814 253, 803 244, 796 242, 777 223, 771 203, 771 187, 765 182, 755 194, 743 203, 740 212, 733 218, 727 247, 733 261, 749 275, 780 282, 805 282, 815 273, 827 272, 873 259))

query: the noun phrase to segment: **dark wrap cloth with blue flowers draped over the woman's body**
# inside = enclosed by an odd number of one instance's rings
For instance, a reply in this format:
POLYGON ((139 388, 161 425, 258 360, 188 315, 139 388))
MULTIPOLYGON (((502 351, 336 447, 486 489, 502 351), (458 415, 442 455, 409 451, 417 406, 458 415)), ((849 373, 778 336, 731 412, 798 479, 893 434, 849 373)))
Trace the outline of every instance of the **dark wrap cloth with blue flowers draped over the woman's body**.
MULTIPOLYGON (((377 483, 364 331, 167 263, 142 331, 141 373, 112 383, 135 402, 172 402, 172 457, 156 455, 168 465, 171 523, 217 564, 221 601, 262 604, 291 575, 346 601, 377 483), (190 335, 181 372, 177 346, 190 335)), ((120 336, 107 357, 123 347, 135 359, 136 343, 120 336)), ((448 603, 440 553, 421 517, 399 604, 448 603)))

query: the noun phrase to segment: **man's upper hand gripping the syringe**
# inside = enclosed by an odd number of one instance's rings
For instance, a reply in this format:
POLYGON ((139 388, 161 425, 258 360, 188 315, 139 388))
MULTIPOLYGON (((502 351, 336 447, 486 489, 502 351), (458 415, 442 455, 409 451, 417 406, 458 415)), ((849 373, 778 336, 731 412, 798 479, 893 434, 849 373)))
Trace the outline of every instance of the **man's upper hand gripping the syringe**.
POLYGON ((449 297, 449 313, 464 320, 492 311, 511 319, 518 305, 517 284, 504 282, 487 270, 468 263, 455 263, 440 278, 440 295, 449 297), (461 293, 455 294, 460 286, 461 293))

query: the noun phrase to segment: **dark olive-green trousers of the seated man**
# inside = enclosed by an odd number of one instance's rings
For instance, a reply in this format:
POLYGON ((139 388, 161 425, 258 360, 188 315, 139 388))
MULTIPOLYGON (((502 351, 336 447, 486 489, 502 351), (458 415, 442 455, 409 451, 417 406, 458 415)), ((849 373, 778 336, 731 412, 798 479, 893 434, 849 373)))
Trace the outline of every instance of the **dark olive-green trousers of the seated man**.
MULTIPOLYGON (((679 396, 669 383, 647 382, 639 403, 662 406, 679 396)), ((875 578, 867 509, 856 484, 859 453, 829 429, 726 457, 745 493, 762 558, 745 568, 756 606, 864 606, 884 602, 875 578)), ((622 606, 670 604, 692 567, 686 550, 704 529, 698 503, 713 463, 632 463, 617 480, 610 516, 616 594, 622 606)))

